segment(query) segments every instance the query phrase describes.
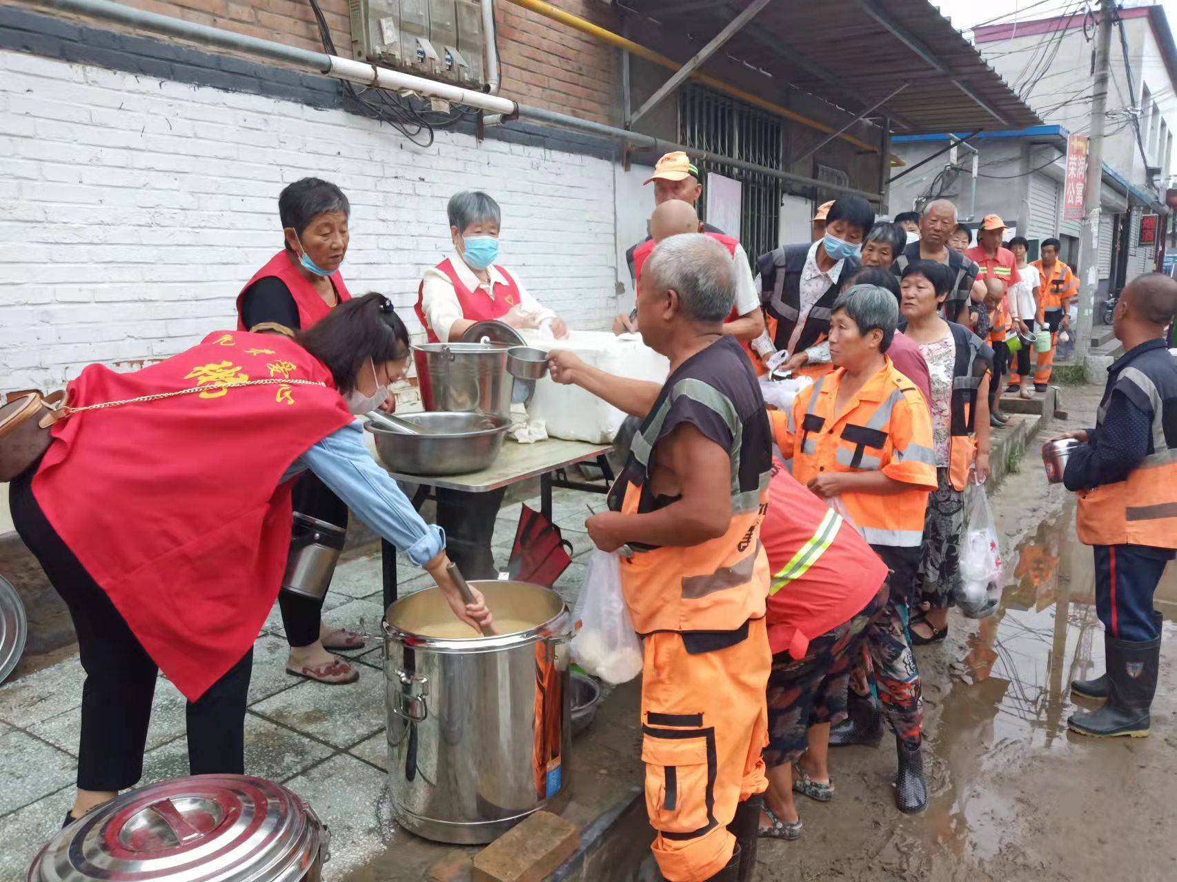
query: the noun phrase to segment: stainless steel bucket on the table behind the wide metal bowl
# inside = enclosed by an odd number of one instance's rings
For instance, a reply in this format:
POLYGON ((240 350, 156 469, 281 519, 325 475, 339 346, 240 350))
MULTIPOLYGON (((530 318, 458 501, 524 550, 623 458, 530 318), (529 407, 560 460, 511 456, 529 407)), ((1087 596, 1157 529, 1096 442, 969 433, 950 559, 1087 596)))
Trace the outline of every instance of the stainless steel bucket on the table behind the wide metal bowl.
POLYGON ((505 343, 421 343, 413 347, 426 410, 511 415, 505 343))

